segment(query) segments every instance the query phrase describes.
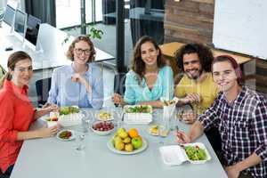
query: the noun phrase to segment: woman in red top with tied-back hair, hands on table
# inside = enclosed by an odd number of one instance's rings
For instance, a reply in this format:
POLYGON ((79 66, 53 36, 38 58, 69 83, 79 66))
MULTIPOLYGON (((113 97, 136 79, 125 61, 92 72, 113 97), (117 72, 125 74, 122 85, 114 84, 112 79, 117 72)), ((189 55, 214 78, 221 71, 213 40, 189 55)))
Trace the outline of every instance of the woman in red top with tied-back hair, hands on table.
POLYGON ((58 126, 28 131, 38 117, 56 110, 55 105, 35 110, 28 99, 28 83, 33 75, 27 53, 12 53, 7 63, 8 73, 0 90, 0 177, 9 176, 23 140, 44 138, 57 133, 58 126))

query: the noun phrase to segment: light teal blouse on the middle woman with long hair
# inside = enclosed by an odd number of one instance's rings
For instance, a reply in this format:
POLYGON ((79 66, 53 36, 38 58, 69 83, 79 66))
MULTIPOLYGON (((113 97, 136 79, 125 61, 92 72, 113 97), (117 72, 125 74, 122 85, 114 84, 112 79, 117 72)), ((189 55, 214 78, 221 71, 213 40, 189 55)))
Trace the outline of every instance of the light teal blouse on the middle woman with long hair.
POLYGON ((174 73, 169 66, 158 71, 158 78, 150 90, 145 78, 141 85, 138 84, 137 74, 130 70, 126 74, 124 100, 128 104, 136 104, 142 101, 158 101, 163 98, 170 100, 174 97, 174 73))

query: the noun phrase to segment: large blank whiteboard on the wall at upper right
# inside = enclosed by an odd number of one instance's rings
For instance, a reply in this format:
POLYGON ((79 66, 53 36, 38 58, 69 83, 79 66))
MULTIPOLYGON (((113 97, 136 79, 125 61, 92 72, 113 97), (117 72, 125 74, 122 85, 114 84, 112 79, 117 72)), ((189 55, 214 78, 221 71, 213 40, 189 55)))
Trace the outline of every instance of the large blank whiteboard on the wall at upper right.
POLYGON ((215 0, 216 48, 267 59, 267 0, 215 0))

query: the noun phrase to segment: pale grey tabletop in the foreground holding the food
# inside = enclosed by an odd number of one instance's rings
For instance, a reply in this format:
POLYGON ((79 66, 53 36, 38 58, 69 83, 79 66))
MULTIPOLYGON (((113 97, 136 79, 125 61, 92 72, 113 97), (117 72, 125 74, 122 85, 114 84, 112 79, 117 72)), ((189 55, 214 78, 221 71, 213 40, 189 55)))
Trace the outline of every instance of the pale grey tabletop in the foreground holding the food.
MULTIPOLYGON (((161 109, 159 109, 160 111, 161 109)), ((92 115, 93 109, 86 109, 92 115)), ((162 110, 155 115, 154 122, 160 122, 162 110)), ((117 117, 115 118, 117 119, 117 117)), ((40 125, 41 121, 35 123, 40 125)), ((182 130, 188 130, 189 125, 178 123, 182 130)), ((214 154, 206 136, 203 135, 198 142, 206 145, 212 159, 203 165, 183 163, 181 166, 166 166, 158 148, 160 140, 165 144, 176 144, 174 133, 166 138, 158 138, 148 134, 149 125, 124 125, 126 129, 136 127, 139 133, 148 142, 148 148, 135 155, 120 155, 107 147, 107 142, 113 134, 97 135, 91 130, 85 134, 85 150, 76 150, 77 141, 61 142, 55 137, 28 140, 23 143, 19 158, 13 168, 11 178, 177 178, 177 177, 204 177, 226 178, 226 174, 218 158, 214 154)), ((73 127, 80 132, 81 127, 73 127)))

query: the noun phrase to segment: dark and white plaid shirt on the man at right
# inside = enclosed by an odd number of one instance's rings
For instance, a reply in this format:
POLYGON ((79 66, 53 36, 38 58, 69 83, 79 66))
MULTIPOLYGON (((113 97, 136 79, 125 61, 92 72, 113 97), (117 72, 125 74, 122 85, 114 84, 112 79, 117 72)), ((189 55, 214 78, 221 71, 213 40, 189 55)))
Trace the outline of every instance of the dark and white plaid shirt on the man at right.
POLYGON ((255 152, 262 162, 247 171, 254 177, 267 177, 267 100, 262 95, 243 86, 236 100, 229 104, 220 93, 198 119, 205 130, 212 125, 218 127, 229 166, 255 152))

